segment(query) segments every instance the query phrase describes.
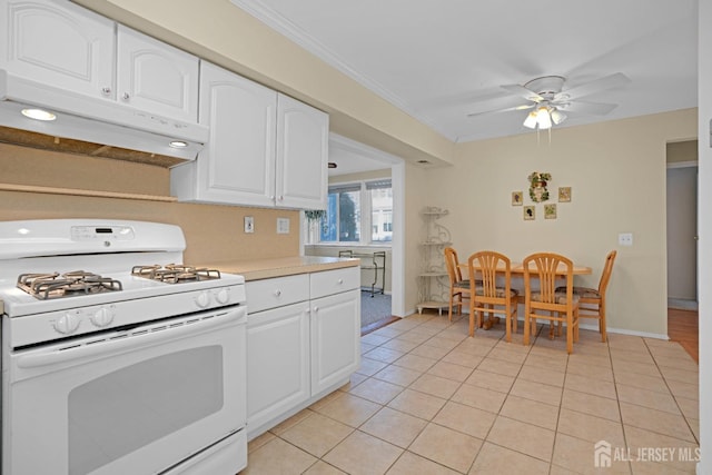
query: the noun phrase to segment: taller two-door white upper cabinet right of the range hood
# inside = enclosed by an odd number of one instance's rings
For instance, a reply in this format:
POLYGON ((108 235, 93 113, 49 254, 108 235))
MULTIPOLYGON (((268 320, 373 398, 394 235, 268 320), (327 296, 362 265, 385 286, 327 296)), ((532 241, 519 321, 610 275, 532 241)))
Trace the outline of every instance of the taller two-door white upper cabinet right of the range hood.
POLYGON ((200 122, 210 140, 195 162, 171 169, 181 200, 325 208, 328 116, 201 62, 200 122))

